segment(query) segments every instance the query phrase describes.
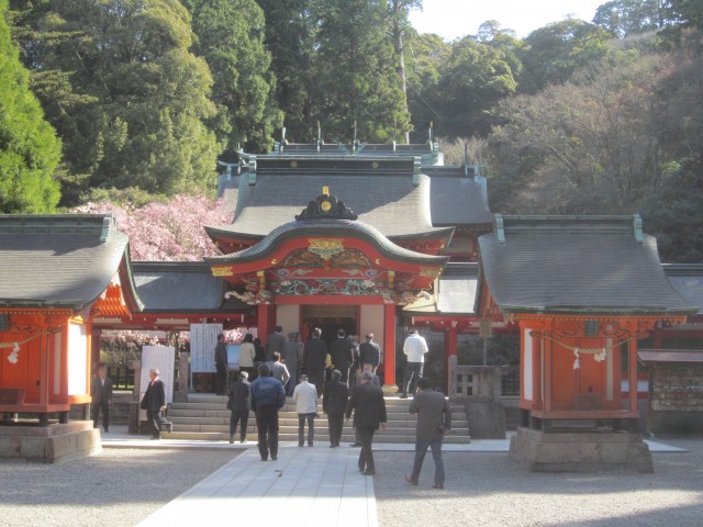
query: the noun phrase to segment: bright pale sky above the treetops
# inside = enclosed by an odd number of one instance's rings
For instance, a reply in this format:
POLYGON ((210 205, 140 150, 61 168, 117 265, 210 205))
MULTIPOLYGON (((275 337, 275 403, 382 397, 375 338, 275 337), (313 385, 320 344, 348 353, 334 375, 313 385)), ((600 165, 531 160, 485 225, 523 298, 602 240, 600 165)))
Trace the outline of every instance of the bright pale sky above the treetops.
POLYGON ((487 20, 525 37, 534 30, 568 15, 591 22, 607 0, 423 0, 423 10, 410 21, 420 33, 435 33, 445 41, 476 35, 487 20))

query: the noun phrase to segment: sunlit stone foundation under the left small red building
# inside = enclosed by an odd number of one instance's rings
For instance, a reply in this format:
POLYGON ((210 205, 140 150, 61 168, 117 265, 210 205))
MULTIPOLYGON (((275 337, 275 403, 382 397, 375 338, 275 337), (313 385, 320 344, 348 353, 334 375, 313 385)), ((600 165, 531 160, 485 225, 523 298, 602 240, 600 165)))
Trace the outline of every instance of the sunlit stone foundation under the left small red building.
POLYGON ((34 426, 12 423, 0 426, 0 458, 59 463, 102 451, 100 430, 91 421, 34 426))

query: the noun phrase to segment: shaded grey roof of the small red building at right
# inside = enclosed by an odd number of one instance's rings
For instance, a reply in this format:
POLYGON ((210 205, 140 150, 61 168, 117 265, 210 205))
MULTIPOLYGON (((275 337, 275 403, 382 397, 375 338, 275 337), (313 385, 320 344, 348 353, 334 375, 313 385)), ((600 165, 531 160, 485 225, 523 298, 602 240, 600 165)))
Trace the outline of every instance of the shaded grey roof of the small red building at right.
POLYGON ((503 313, 693 314, 634 216, 495 216, 479 238, 503 313))

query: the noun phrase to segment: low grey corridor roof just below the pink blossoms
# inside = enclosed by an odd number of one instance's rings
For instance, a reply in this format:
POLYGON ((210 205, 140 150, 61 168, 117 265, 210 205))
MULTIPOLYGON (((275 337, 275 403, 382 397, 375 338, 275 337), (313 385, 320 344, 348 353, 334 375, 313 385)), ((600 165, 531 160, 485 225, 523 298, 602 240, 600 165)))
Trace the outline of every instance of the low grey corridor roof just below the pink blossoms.
POLYGON ((132 270, 144 313, 250 310, 236 299, 225 300, 227 284, 212 276, 207 262, 135 261, 132 270))

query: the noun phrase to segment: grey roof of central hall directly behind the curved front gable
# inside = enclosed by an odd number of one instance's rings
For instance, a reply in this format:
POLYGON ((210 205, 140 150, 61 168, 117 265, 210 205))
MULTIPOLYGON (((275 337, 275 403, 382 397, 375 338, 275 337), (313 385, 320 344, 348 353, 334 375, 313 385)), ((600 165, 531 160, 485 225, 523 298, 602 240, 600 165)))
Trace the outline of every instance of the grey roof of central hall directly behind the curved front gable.
POLYGON ((364 223, 389 237, 439 234, 432 225, 429 179, 415 173, 410 158, 257 158, 255 172, 243 171, 236 182, 237 205, 231 225, 209 226, 208 233, 264 237, 288 223, 323 187, 343 200, 364 223))

